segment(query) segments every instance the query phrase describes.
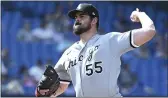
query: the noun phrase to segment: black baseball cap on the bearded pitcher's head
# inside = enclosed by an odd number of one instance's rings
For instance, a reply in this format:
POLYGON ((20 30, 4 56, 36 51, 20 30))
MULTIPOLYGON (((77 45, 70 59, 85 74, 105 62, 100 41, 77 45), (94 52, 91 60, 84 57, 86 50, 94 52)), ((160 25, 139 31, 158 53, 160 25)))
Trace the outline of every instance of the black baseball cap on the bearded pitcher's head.
POLYGON ((75 19, 77 12, 83 12, 88 14, 91 17, 99 18, 98 10, 92 4, 80 3, 76 9, 68 12, 68 16, 72 19, 75 19))

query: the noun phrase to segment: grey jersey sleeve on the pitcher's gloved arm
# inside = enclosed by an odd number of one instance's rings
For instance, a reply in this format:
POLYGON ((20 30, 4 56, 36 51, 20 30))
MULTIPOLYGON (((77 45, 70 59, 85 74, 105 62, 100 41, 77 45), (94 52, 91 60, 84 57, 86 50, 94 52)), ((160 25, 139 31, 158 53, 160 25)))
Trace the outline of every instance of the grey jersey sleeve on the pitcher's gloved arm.
POLYGON ((58 73, 61 82, 70 82, 71 78, 67 70, 65 69, 65 62, 67 60, 67 54, 64 52, 54 69, 58 73))

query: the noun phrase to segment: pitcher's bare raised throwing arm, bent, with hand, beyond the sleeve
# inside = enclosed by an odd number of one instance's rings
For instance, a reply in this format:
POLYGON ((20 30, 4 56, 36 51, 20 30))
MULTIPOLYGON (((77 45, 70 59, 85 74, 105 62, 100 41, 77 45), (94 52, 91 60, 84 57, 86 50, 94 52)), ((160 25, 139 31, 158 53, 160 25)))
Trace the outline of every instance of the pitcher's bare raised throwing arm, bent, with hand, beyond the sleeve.
POLYGON ((154 37, 156 33, 154 23, 145 12, 139 12, 139 9, 136 9, 130 18, 133 22, 140 22, 142 25, 142 28, 131 31, 131 44, 134 47, 139 47, 154 37))

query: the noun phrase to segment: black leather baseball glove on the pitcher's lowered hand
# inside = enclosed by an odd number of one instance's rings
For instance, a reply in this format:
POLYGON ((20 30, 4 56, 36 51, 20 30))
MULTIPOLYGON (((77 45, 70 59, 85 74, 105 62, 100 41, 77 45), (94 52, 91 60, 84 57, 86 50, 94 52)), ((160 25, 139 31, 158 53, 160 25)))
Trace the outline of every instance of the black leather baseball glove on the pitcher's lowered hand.
POLYGON ((35 95, 36 97, 49 97, 56 92, 60 84, 60 79, 57 72, 50 65, 46 67, 46 70, 40 79, 35 95))

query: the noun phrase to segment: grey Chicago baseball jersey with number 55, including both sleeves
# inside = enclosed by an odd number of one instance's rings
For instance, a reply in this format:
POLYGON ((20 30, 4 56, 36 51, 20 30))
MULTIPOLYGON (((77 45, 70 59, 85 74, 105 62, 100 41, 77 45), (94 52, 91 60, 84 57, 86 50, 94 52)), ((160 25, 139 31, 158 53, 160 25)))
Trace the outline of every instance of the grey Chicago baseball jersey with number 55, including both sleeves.
POLYGON ((136 47, 132 33, 95 34, 74 43, 55 65, 61 81, 72 81, 76 97, 120 97, 120 56, 136 47))

